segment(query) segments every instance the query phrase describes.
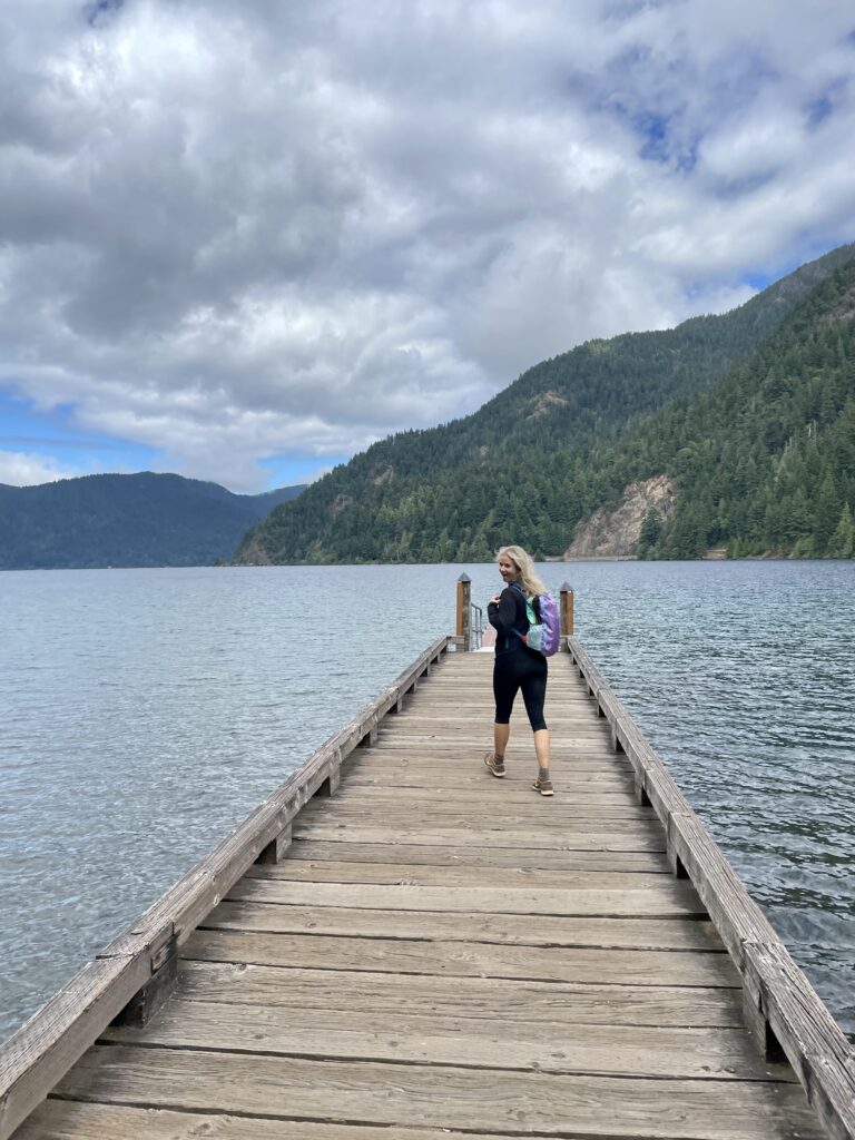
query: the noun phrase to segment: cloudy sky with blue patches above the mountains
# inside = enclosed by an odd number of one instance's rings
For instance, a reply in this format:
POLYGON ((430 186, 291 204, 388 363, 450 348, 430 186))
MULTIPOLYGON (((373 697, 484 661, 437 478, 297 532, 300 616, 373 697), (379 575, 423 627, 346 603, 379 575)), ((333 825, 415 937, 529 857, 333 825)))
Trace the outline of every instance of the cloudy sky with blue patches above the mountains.
POLYGON ((0 482, 254 491, 855 238, 852 0, 2 0, 0 482))

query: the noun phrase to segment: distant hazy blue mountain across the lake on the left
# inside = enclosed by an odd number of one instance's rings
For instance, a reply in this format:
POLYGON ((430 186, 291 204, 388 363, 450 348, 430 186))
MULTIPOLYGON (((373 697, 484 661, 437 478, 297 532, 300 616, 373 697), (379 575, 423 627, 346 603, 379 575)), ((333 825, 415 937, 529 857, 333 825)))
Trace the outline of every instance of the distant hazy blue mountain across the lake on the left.
POLYGON ((302 487, 234 495, 181 475, 0 484, 0 570, 212 565, 302 487))

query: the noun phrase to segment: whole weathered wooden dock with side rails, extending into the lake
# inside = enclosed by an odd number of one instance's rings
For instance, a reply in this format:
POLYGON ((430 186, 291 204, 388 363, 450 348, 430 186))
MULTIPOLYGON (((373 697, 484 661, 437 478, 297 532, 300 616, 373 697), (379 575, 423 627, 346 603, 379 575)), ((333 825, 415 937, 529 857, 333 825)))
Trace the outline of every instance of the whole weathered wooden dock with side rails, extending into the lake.
POLYGON ((522 709, 484 768, 491 657, 448 641, 10 1040, 0 1134, 853 1137, 842 1035, 578 642, 549 800, 522 709))

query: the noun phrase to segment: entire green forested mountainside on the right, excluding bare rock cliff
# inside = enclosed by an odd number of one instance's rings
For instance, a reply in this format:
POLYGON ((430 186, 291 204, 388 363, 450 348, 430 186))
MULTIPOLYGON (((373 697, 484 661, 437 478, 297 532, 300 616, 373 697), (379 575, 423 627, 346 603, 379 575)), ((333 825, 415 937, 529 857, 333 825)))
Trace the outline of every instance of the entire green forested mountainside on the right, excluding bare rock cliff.
POLYGON ((479 561, 508 542, 560 555, 579 520, 662 473, 677 507, 666 523, 645 521, 642 556, 845 547, 853 252, 803 267, 733 312, 588 342, 474 415, 392 435, 274 511, 235 557, 479 561))

